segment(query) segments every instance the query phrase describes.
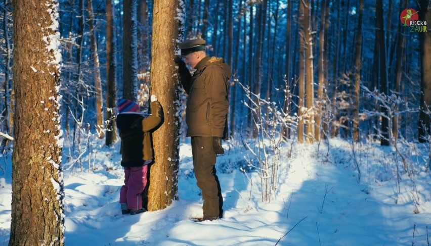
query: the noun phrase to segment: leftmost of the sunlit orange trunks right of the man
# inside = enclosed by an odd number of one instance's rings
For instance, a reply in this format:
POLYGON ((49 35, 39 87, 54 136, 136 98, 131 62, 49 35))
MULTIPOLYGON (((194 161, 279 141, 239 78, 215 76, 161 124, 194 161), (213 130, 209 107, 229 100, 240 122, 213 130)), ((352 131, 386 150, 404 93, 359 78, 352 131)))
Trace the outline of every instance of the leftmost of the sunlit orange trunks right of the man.
POLYGON ((306 27, 304 23, 305 15, 305 6, 304 2, 301 1, 299 3, 299 78, 298 78, 298 142, 303 143, 304 142, 304 86, 305 86, 305 32, 306 27))

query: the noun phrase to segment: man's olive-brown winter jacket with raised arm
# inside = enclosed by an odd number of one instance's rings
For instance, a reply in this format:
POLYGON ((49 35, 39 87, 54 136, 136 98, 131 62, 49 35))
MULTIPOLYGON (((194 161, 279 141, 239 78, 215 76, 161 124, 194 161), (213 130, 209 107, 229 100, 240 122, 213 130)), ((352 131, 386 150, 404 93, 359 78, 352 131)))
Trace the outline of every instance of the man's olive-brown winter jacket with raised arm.
POLYGON ((229 111, 228 80, 231 68, 222 58, 204 57, 190 75, 184 62, 179 64, 183 88, 188 93, 187 136, 226 138, 229 111))

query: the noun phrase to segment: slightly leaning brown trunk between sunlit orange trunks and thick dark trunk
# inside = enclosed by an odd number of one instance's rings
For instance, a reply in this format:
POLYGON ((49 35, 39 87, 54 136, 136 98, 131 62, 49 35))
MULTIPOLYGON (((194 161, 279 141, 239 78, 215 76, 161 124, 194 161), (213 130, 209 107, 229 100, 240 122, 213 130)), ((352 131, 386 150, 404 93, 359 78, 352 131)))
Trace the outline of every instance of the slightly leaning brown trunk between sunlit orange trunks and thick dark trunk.
POLYGON ((353 140, 359 142, 359 92, 361 86, 361 46, 362 46, 362 12, 364 10, 364 0, 359 1, 358 34, 356 35, 355 53, 355 105, 353 117, 353 140))

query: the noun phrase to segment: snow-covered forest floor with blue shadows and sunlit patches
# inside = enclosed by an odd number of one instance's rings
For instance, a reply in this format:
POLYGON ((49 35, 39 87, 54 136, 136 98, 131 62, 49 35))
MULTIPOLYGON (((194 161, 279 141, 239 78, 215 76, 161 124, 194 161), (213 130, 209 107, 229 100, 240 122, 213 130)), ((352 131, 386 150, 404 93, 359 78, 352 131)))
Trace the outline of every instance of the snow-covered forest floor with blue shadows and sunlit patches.
MULTIPOLYGON (((202 215, 189 143, 180 146, 180 199, 162 211, 138 215, 121 215, 119 209, 123 183, 119 145, 98 145, 90 171, 88 155, 83 159, 83 172, 76 165, 64 166, 65 243, 275 245, 284 236, 277 245, 429 245, 428 147, 400 146, 412 173, 408 176, 394 147, 367 143, 357 145, 353 152, 350 142, 331 139, 329 143, 329 149, 326 142, 295 144, 291 158, 290 144, 284 146, 279 183, 270 203, 262 202, 258 173, 240 171, 247 164, 244 147, 224 143, 227 154, 218 157, 217 164, 225 200, 224 218, 204 222, 189 220, 202 215), (359 183, 357 167, 361 172, 359 183)), ((11 160, 2 159, 0 245, 7 245, 11 160)))

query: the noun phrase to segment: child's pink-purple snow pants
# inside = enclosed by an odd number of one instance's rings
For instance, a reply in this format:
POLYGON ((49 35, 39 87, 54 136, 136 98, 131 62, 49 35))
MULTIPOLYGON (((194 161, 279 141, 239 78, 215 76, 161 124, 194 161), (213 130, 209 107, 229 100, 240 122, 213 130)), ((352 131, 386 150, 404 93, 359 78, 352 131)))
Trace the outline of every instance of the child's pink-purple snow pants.
POLYGON ((120 203, 128 209, 142 209, 142 191, 147 186, 148 165, 124 167, 124 185, 120 189, 120 203))

